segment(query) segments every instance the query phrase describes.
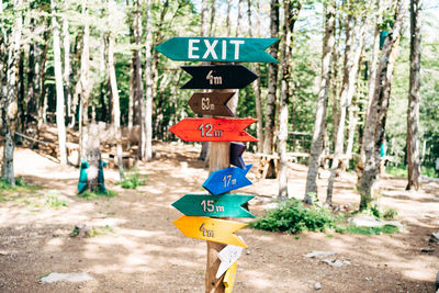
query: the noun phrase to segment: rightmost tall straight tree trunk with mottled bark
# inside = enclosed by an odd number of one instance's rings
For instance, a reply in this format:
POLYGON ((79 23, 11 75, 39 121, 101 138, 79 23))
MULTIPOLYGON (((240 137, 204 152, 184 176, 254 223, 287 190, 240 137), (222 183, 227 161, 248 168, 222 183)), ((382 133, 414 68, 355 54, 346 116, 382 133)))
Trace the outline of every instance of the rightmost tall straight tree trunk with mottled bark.
POLYGON ((410 0, 410 86, 407 109, 407 169, 406 190, 419 189, 419 104, 420 104, 420 26, 423 0, 410 0))

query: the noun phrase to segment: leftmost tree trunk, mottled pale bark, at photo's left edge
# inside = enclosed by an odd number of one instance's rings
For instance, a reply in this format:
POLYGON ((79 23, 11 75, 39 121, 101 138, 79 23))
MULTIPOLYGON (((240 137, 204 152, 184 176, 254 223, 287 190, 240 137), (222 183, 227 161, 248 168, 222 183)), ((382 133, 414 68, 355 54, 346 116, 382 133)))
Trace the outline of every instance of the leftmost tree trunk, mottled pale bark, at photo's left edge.
MULTIPOLYGON (((22 1, 16 1, 15 7, 20 8, 22 1)), ((11 185, 15 185, 14 178, 14 135, 16 128, 16 114, 18 114, 18 97, 16 97, 16 75, 18 61, 21 45, 22 34, 22 13, 18 13, 12 27, 11 37, 8 47, 8 64, 7 64, 7 84, 5 95, 2 97, 2 124, 4 133, 3 143, 3 164, 1 166, 1 179, 8 181, 11 185)))

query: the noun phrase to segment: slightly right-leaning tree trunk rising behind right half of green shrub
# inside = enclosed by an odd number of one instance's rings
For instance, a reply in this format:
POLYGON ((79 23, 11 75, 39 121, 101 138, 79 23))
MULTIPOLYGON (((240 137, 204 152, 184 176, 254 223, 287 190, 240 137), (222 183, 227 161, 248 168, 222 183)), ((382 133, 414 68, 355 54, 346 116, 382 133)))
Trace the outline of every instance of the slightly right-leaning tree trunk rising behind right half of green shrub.
POLYGON ((325 35, 323 40, 322 78, 317 98, 317 110, 314 122, 313 140, 311 144, 308 173, 306 176, 305 202, 313 202, 313 194, 317 195, 317 173, 323 150, 324 135, 326 131, 326 110, 328 106, 328 94, 330 87, 330 63, 335 44, 335 7, 326 5, 325 11, 325 35))

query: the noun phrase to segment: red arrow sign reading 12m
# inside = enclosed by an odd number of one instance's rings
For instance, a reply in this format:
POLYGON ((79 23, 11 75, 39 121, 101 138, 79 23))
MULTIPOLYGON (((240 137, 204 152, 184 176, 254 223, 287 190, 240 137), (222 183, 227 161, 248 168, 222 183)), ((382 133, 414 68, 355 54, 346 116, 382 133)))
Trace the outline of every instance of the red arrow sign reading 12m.
POLYGON ((258 142, 244 129, 256 119, 184 119, 169 128, 184 142, 258 142))

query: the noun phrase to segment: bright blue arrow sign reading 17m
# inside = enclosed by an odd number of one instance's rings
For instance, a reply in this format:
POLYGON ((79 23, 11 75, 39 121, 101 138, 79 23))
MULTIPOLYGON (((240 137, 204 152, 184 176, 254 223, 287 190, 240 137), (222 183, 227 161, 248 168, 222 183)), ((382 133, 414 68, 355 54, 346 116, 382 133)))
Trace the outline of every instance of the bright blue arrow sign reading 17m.
POLYGON ((207 180, 204 181, 203 188, 210 193, 217 195, 234 189, 251 185, 251 181, 246 178, 251 166, 251 164, 247 165, 246 169, 230 167, 214 171, 207 180))

